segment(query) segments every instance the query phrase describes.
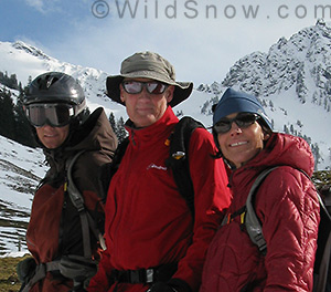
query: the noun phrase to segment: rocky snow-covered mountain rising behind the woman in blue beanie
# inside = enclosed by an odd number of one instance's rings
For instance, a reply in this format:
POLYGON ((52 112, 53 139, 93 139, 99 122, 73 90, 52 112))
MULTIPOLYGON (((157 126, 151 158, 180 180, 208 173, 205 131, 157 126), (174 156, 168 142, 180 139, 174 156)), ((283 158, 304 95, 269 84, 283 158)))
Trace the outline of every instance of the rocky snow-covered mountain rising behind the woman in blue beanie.
POLYGON ((221 83, 202 84, 199 91, 213 96, 202 111, 211 114, 227 87, 259 97, 275 129, 305 137, 319 169, 331 165, 331 25, 318 20, 288 40, 280 38, 267 53, 239 59, 221 83))

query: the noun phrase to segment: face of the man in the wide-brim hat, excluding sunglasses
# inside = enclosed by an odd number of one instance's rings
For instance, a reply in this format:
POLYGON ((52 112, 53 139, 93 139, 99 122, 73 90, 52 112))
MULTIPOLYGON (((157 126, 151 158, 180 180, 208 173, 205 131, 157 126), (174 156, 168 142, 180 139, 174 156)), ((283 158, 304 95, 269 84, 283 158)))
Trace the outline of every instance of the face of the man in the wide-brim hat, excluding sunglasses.
MULTIPOLYGON (((149 79, 126 79, 136 82, 156 82, 149 79)), ((146 84, 143 84, 146 85, 146 84)), ((125 103, 129 118, 136 127, 148 127, 159 121, 173 97, 174 86, 167 86, 163 93, 149 93, 146 86, 140 93, 128 93, 120 84, 120 100, 125 103)))

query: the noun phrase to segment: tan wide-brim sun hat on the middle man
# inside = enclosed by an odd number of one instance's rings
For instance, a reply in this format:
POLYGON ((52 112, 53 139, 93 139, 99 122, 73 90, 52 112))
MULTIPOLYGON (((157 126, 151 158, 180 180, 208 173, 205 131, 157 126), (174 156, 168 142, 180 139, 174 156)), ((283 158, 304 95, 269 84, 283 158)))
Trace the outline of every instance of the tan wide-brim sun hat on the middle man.
POLYGON ((108 76, 107 95, 115 102, 125 105, 120 100, 119 84, 124 79, 151 79, 174 85, 172 107, 186 100, 192 90, 192 82, 177 82, 174 67, 161 55, 152 52, 139 52, 121 62, 120 75, 108 76))

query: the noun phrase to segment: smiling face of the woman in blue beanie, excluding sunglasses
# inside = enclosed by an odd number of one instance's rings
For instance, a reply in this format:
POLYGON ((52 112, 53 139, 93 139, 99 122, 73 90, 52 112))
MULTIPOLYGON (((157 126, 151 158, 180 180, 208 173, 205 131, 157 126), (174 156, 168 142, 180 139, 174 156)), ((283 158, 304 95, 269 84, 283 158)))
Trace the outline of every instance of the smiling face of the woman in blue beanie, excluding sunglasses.
MULTIPOLYGON (((238 113, 227 115, 225 119, 235 118, 237 115, 238 113)), ((256 121, 245 127, 232 122, 228 132, 217 134, 223 156, 236 168, 254 158, 264 148, 264 140, 268 137, 269 134, 266 134, 256 121)))

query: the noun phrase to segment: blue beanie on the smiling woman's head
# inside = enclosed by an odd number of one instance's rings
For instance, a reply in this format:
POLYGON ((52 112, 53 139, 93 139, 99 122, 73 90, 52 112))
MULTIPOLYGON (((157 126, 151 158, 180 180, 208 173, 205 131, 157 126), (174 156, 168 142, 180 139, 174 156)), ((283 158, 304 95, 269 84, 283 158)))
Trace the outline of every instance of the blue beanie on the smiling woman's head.
POLYGON ((214 109, 213 125, 215 125, 221 118, 234 113, 257 114, 273 131, 270 118, 266 115, 265 109, 255 96, 244 92, 236 92, 233 88, 227 88, 214 109))

